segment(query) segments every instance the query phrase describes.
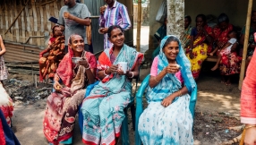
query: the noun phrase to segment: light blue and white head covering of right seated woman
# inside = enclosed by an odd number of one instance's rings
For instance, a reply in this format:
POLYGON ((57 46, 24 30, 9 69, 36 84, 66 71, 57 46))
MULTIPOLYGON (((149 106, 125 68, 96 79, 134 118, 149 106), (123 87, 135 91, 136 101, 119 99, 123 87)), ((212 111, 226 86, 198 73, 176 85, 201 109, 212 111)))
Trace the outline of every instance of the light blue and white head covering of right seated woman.
MULTIPOLYGON (((161 44, 160 44, 160 53, 159 53, 159 63, 158 63, 158 71, 162 71, 167 65, 168 65, 168 60, 166 58, 166 55, 163 53, 163 48, 166 44, 166 40, 170 37, 174 37, 178 39, 179 43, 179 53, 176 56, 176 62, 181 66, 181 73, 183 76, 184 84, 189 90, 189 92, 192 92, 192 90, 195 88, 196 83, 192 77, 192 72, 191 72, 191 62, 189 59, 186 57, 183 51, 182 43, 179 38, 177 38, 175 35, 167 35, 165 38, 162 39, 161 44)), ((173 74, 167 74, 167 75, 173 75, 173 74)))

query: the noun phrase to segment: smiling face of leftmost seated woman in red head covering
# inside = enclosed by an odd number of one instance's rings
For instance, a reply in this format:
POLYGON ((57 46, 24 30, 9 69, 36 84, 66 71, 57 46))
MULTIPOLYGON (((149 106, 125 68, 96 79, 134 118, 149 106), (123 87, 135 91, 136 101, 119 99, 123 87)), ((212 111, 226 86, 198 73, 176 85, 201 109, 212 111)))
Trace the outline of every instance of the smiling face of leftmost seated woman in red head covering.
POLYGON ((83 38, 81 38, 80 35, 73 35, 71 38, 71 44, 69 44, 70 47, 72 47, 73 52, 82 52, 84 48, 84 41, 83 38))

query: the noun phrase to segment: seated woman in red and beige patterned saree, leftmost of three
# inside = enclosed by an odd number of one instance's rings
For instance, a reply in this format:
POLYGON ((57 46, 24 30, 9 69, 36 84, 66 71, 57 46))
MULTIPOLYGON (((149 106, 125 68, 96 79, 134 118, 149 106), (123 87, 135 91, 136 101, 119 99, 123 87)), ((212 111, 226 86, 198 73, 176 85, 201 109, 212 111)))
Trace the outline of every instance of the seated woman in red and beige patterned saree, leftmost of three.
POLYGON ((84 98, 86 87, 95 81, 97 67, 95 56, 84 51, 84 41, 80 35, 69 38, 68 49, 69 52, 64 55, 56 70, 55 92, 47 98, 43 123, 47 141, 55 145, 59 142, 72 143, 78 107, 84 98), (73 57, 79 57, 79 62, 73 62, 73 57), (59 81, 66 87, 63 88, 59 81))

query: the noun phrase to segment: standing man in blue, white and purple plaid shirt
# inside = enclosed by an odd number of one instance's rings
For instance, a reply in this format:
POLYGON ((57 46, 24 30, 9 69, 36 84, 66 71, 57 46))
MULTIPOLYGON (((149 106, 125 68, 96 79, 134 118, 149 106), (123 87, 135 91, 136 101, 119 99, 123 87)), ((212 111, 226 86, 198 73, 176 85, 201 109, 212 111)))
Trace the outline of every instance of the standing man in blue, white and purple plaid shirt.
POLYGON ((106 6, 101 6, 98 32, 104 34, 104 49, 112 47, 112 43, 107 38, 107 30, 110 26, 119 25, 123 30, 129 30, 132 23, 129 18, 126 6, 116 0, 104 0, 106 6))

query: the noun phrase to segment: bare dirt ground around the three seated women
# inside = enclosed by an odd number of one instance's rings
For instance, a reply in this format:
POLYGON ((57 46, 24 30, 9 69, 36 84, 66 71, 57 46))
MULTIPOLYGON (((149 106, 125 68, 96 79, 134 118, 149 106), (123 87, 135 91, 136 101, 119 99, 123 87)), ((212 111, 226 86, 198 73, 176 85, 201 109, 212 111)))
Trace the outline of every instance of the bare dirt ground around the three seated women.
MULTIPOLYGON (((234 78, 232 85, 226 86, 220 83, 218 72, 209 71, 211 65, 210 63, 204 64, 201 77, 197 81, 198 100, 193 126, 195 145, 222 144, 241 133, 229 129, 231 126, 240 125, 238 77, 234 78)), ((141 69, 141 80, 147 74, 149 74, 149 68, 141 69)), ((10 74, 9 79, 13 78, 32 81, 30 75, 24 74, 10 74)), ((26 101, 14 99, 13 131, 22 145, 47 145, 42 132, 46 99, 27 99, 26 101)), ((134 144, 131 116, 129 130, 131 144, 134 144)), ((73 137, 73 145, 82 145, 78 124, 75 125, 73 137)))

